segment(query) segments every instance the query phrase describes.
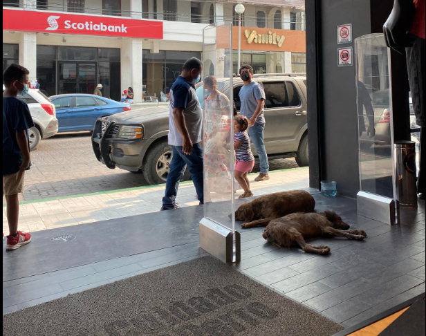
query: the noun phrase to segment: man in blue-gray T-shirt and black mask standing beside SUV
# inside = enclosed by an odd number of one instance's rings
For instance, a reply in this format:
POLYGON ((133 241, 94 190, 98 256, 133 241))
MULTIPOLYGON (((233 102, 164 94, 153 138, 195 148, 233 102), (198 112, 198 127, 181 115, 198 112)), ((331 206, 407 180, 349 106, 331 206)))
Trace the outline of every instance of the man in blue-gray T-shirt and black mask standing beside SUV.
POLYGON ((248 134, 254 144, 260 160, 260 174, 256 182, 269 180, 268 153, 266 153, 263 133, 265 130, 265 91, 260 84, 253 81, 253 68, 243 65, 239 70, 244 86, 241 88, 239 97, 241 100, 241 115, 248 119, 248 134))

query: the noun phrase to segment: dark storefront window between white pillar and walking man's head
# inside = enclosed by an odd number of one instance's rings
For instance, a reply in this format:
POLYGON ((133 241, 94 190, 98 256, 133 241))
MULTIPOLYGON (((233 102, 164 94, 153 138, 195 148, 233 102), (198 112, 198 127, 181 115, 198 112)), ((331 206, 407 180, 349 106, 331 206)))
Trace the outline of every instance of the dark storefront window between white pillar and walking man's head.
POLYGON ((166 100, 166 95, 182 72, 183 64, 192 57, 201 59, 201 53, 160 51, 154 54, 150 50, 143 50, 142 80, 145 100, 153 101, 156 97, 158 100, 162 97, 166 100))

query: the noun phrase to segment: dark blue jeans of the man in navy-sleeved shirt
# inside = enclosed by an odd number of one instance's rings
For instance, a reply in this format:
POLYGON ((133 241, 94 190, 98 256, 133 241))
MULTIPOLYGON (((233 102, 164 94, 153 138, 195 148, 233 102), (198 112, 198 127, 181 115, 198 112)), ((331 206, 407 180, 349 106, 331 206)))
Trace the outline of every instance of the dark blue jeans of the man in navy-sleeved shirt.
POLYGON ((165 209, 174 209, 176 196, 178 196, 179 181, 185 174, 185 166, 192 175, 192 181, 194 182, 200 204, 204 203, 203 149, 200 144, 194 144, 192 154, 185 155, 182 152, 182 146, 174 146, 173 159, 167 176, 166 194, 163 198, 163 207, 165 209))

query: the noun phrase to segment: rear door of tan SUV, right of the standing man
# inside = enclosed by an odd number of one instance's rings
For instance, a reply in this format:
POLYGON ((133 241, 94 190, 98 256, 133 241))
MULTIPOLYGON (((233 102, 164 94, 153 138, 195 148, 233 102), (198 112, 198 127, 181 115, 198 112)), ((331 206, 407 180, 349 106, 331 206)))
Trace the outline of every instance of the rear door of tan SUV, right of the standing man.
POLYGON ((306 106, 294 80, 262 82, 265 90, 265 144, 268 154, 297 151, 306 126, 306 106))

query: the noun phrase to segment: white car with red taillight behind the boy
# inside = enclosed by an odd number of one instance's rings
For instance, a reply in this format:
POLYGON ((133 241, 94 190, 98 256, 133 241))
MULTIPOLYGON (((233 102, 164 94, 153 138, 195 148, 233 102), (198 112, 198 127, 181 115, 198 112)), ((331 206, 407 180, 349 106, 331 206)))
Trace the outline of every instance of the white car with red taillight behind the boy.
MULTIPOLYGON (((5 88, 3 85, 3 92, 5 88)), ((37 148, 41 139, 55 136, 58 130, 55 105, 41 91, 30 88, 28 94, 18 97, 28 104, 35 127, 28 130, 30 150, 37 148)))

